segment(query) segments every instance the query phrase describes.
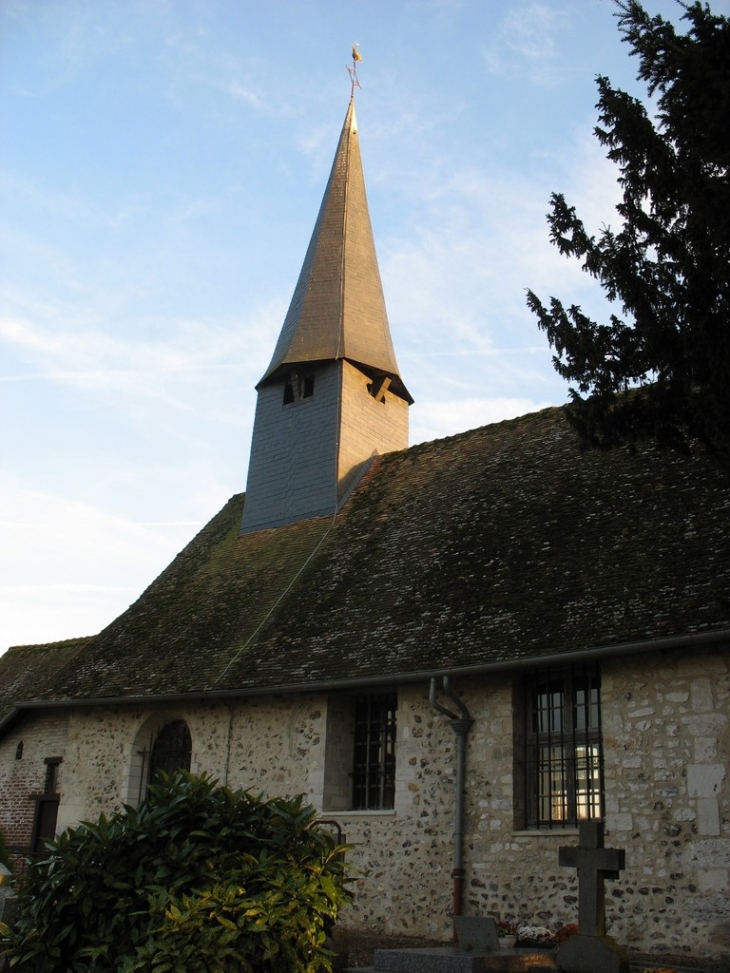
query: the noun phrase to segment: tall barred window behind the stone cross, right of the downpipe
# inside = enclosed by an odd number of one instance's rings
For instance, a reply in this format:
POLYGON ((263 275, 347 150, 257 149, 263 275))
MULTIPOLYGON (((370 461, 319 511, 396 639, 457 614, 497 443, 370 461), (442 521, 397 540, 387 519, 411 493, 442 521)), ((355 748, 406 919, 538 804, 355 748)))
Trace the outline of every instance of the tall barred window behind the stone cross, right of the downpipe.
POLYGON ((527 826, 603 817, 601 688, 595 665, 535 673, 525 705, 527 826))

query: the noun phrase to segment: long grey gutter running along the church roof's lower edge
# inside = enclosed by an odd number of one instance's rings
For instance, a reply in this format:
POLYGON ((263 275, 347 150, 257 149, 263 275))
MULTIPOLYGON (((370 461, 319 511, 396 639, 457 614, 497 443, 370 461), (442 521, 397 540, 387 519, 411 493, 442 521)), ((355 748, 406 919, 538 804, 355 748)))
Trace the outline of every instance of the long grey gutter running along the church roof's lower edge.
POLYGON ((0 720, 0 735, 19 717, 24 710, 60 709, 64 707, 87 706, 139 706, 155 703, 182 703, 199 700, 245 699, 249 696, 280 696, 316 692, 335 692, 337 690, 366 689, 376 686, 405 686, 411 683, 442 680, 444 677, 458 679, 460 676, 478 676, 492 672, 522 671, 537 666, 561 665, 566 662, 583 662, 591 659, 610 659, 623 655, 644 652, 662 652, 669 649, 699 648, 717 642, 730 642, 730 629, 714 632, 701 632, 689 635, 670 635, 662 639, 641 639, 633 642, 619 642, 615 645, 594 646, 577 651, 552 652, 546 655, 530 655, 518 659, 501 659, 496 662, 481 662, 470 666, 448 666, 439 669, 423 669, 413 672, 399 672, 374 676, 347 676, 342 679, 317 679, 312 682, 278 683, 270 686, 239 687, 238 689, 192 690, 189 693, 147 693, 135 696, 95 696, 75 699, 21 700, 0 720))

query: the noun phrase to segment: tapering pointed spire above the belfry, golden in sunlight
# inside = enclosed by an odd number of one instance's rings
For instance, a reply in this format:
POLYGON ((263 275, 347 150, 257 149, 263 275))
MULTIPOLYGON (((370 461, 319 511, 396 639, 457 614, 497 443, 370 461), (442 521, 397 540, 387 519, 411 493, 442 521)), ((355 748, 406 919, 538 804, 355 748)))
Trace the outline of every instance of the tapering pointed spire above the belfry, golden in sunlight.
POLYGON ((352 98, 294 296, 257 388, 293 365, 341 359, 387 376, 391 391, 413 401, 390 337, 352 98))

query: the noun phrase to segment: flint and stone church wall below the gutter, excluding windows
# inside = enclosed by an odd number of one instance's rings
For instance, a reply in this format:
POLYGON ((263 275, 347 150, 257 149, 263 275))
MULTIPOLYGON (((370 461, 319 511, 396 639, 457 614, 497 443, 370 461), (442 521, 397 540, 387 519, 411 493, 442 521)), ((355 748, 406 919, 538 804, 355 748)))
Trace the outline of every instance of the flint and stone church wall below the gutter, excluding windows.
MULTIPOLYGON (((717 753, 729 749, 727 660, 719 652, 665 653, 605 660, 601 672, 606 843, 626 851, 625 871, 606 883, 611 935, 629 950, 726 959, 730 794, 717 759, 698 763, 696 754, 698 739, 714 740, 717 753), (689 713, 697 680, 703 693, 711 686, 712 713, 689 713), (647 707, 652 716, 635 715, 647 707), (692 719, 683 720, 685 714, 692 719), (712 717, 711 737, 698 715, 712 717), (644 758, 637 762, 639 753, 644 758), (709 790, 712 797, 698 796, 709 790), (707 801, 716 804, 717 818, 708 815, 707 801), (710 819, 719 834, 701 833, 710 819)), ((492 673, 453 679, 452 686, 474 718, 466 753, 465 913, 550 928, 577 921, 576 876, 558 864, 558 848, 577 843, 577 832, 525 831, 519 817, 522 784, 519 761, 513 761, 519 680, 492 673)), ((59 827, 70 825, 123 801, 135 803, 142 781, 138 771, 135 777, 134 754, 144 735, 150 739, 165 722, 184 719, 194 771, 256 793, 303 793, 325 818, 339 822, 357 869, 344 929, 448 942, 456 746, 449 726, 429 706, 428 689, 425 681, 398 688, 390 811, 342 807, 347 697, 341 694, 231 698, 225 706, 78 708, 69 712, 60 736, 48 712, 31 713, 0 743, 0 767, 3 774, 8 768, 18 773, 11 757, 22 739, 19 764, 34 769, 19 782, 30 794, 41 785, 43 758, 65 749, 59 827), (339 770, 330 765, 328 749, 339 770), (337 796, 325 804, 328 788, 337 796)))

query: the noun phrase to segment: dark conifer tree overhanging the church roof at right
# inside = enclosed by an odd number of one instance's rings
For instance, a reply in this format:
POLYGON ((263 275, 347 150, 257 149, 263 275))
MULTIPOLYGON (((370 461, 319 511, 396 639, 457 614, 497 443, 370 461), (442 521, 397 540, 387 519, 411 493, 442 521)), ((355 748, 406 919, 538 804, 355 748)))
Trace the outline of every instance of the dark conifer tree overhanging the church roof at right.
POLYGON ((548 223, 623 317, 597 324, 532 292, 528 305, 577 385, 586 445, 651 437, 686 451, 697 437, 730 465, 730 21, 682 4, 683 34, 635 0, 616 5, 656 117, 599 77, 595 133, 620 170, 621 225, 590 236, 558 194, 548 223))

